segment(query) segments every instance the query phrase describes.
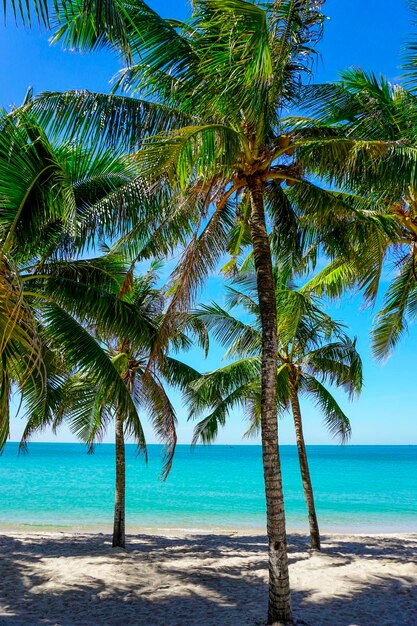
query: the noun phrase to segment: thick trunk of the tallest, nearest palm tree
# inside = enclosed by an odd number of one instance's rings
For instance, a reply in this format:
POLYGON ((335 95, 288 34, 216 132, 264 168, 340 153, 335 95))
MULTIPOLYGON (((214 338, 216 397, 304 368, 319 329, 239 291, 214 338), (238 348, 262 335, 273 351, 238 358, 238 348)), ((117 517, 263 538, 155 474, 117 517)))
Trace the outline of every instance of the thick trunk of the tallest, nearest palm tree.
POLYGON ((262 323, 261 435, 269 544, 268 624, 288 624, 291 622, 291 601, 284 496, 278 450, 276 403, 278 340, 275 284, 265 223, 264 185, 262 180, 254 178, 248 187, 251 196, 250 229, 262 323))

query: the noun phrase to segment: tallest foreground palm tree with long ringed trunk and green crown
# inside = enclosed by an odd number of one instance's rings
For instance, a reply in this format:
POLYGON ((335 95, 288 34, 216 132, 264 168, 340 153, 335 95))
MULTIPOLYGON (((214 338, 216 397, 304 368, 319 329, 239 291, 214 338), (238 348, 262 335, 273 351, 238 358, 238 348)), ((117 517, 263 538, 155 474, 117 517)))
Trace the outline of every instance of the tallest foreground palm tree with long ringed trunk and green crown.
POLYGON ((118 84, 140 99, 55 94, 31 106, 63 136, 133 151, 144 187, 138 202, 142 221, 154 230, 169 221, 188 236, 172 277, 161 341, 168 340, 174 313, 189 308, 228 244, 233 241, 235 249, 253 245, 263 337, 270 623, 290 621, 291 607, 277 453, 269 231, 282 247, 294 243, 294 214, 281 185, 301 181, 302 172, 293 158, 297 135, 286 132, 280 115, 298 97, 302 76, 309 71, 321 35, 320 6, 307 0, 265 5, 209 0, 193 3, 190 21, 181 23, 162 19, 141 0, 133 5, 91 2, 88 11, 84 3, 73 3, 61 16, 55 40, 72 48, 121 51, 129 66, 118 84), (159 211, 148 209, 150 198, 159 211))

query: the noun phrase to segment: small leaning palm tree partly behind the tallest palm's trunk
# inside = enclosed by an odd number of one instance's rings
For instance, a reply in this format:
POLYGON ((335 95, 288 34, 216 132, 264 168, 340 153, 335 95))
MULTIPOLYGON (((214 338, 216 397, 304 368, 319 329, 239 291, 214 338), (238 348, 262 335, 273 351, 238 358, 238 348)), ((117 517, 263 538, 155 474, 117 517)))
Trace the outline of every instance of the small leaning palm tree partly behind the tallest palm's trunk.
MULTIPOLYGON (((311 293, 295 289, 288 269, 275 267, 278 321, 278 410, 291 408, 294 420, 304 497, 310 525, 312 550, 320 550, 320 533, 307 460, 300 408, 300 395, 312 398, 324 415, 330 431, 345 441, 350 423, 325 383, 342 387, 350 396, 362 387, 362 363, 355 342, 319 308, 311 293)), ((204 321, 214 337, 227 347, 232 363, 202 375, 188 391, 192 417, 211 408, 195 428, 194 442, 212 442, 219 425, 236 406, 249 416, 248 434, 260 425, 260 354, 262 347, 260 310, 253 273, 237 276, 228 288, 228 310, 218 304, 202 306, 195 315, 204 321), (241 290, 243 289, 243 290, 241 290), (231 312, 239 307, 246 322, 231 312)))

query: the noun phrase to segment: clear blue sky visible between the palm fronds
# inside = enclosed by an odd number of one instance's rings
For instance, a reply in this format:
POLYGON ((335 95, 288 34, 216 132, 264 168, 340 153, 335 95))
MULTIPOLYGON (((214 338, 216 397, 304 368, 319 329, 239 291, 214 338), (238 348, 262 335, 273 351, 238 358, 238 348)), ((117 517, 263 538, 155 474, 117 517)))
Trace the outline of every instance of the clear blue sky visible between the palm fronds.
MULTIPOLYGON (((151 0, 149 4, 164 16, 183 18, 188 13, 186 2, 177 0, 151 0)), ((328 0, 325 11, 329 16, 325 36, 320 45, 322 63, 316 72, 316 81, 331 81, 338 72, 355 65, 376 73, 385 74, 392 82, 399 80, 400 51, 411 30, 405 0, 328 0)), ((107 91, 109 79, 118 69, 112 55, 95 53, 77 55, 48 45, 48 34, 37 29, 16 28, 12 20, 0 26, 0 106, 18 105, 30 85, 35 92, 43 90, 89 89, 107 91)), ((221 303, 222 280, 209 280, 203 299, 221 303), (219 295, 220 294, 220 295, 219 295)), ((415 354, 417 328, 390 361, 383 367, 376 364, 369 350, 371 311, 361 311, 359 298, 347 298, 331 311, 343 320, 358 337, 358 346, 365 366, 365 389, 359 401, 350 404, 338 395, 352 421, 354 444, 409 444, 417 443, 415 381, 415 354)), ((202 371, 215 367, 221 351, 214 347, 208 361, 198 352, 187 355, 186 360, 202 371)), ((192 425, 185 423, 185 414, 179 397, 175 397, 180 421, 179 440, 187 443, 192 425)), ((306 439, 308 443, 333 443, 321 424, 320 415, 309 403, 303 403, 306 439)), ((13 420, 12 439, 18 439, 21 421, 13 420)), ((229 420, 218 443, 240 443, 245 424, 239 415, 229 420)), ((154 441, 147 429, 148 441, 154 441)), ((293 443, 293 429, 289 416, 281 423, 281 443, 293 443)), ((50 433, 39 439, 52 440, 50 433)), ((71 435, 62 430, 58 437, 68 441, 71 435)), ((111 436, 109 438, 111 440, 111 436)))

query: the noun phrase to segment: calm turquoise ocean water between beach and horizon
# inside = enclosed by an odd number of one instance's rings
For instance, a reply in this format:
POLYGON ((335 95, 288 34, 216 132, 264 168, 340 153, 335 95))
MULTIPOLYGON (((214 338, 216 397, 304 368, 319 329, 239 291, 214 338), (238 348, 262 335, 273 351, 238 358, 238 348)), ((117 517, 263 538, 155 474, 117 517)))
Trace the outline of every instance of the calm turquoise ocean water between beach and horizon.
MULTIPOLYGON (((263 528, 259 446, 178 446, 159 480, 161 447, 149 463, 127 446, 127 529, 263 528)), ((309 446, 323 530, 417 531, 417 446, 309 446)), ((288 527, 306 529, 295 446, 281 447, 288 527)), ((33 443, 0 457, 0 527, 110 531, 114 448, 93 455, 79 444, 33 443)))

